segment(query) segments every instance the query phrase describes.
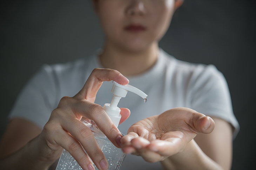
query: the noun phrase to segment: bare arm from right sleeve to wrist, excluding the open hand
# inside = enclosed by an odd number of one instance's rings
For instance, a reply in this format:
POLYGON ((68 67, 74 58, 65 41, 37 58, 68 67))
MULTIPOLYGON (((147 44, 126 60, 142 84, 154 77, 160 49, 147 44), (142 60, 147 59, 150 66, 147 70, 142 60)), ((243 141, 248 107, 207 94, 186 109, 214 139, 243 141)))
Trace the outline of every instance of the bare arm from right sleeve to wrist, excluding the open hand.
POLYGON ((220 118, 213 118, 213 120, 215 121, 213 132, 197 134, 182 153, 161 161, 164 169, 231 169, 231 125, 220 118))

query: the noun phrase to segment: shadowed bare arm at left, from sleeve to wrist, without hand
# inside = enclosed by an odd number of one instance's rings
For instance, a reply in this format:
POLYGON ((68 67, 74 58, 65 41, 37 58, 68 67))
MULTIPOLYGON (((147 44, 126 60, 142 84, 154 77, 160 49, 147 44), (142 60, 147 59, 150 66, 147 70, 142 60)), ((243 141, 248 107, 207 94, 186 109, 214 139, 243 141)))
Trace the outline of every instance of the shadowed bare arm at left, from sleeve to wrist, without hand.
POLYGON ((32 139, 38 136, 41 131, 30 121, 19 118, 12 119, 0 143, 1 167, 5 169, 20 169, 21 167, 25 169, 48 169, 53 162, 37 160, 32 152, 35 144, 35 139, 32 139))

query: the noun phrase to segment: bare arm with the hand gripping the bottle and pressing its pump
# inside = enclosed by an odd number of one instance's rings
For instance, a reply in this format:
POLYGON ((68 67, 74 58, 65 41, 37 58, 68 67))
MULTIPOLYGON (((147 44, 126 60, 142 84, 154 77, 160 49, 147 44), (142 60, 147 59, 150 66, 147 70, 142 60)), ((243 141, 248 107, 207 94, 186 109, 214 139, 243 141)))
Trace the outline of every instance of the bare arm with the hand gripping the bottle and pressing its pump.
MULTIPOLYGON (((41 133, 38 128, 33 130, 35 127, 33 124, 26 126, 27 121, 19 120, 17 125, 17 120, 12 120, 0 146, 0 150, 5 153, 0 160, 1 168, 47 169, 60 157, 64 148, 85 170, 93 168, 90 158, 100 170, 108 169, 106 158, 97 145, 92 132, 80 119, 86 117, 94 120, 108 139, 119 147, 121 133, 103 108, 94 103, 102 82, 111 80, 120 84, 129 82, 115 70, 94 69, 78 94, 61 99, 41 133), (26 135, 27 133, 29 135, 26 135), (83 151, 82 146, 88 155, 83 151)), ((129 117, 129 110, 121 108, 120 114, 122 114, 120 120, 122 123, 129 117)))

